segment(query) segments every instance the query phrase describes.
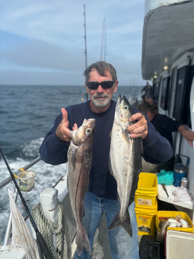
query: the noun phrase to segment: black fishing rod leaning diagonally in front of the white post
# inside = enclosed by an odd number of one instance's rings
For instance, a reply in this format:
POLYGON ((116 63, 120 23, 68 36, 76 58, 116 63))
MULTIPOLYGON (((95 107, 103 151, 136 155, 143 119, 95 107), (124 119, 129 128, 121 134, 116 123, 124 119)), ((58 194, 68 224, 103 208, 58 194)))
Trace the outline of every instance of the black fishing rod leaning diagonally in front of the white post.
POLYGON ((19 196, 20 196, 20 198, 21 198, 22 203, 24 204, 24 207, 25 207, 25 209, 26 209, 26 212, 28 213, 28 217, 29 217, 29 219, 30 219, 30 221, 31 221, 31 223, 32 223, 32 226, 33 226, 34 231, 35 231, 35 233, 36 233, 36 238, 37 238, 37 240, 38 240, 38 242, 39 242, 39 245, 40 245, 40 247, 41 247, 41 249, 42 249, 42 252, 43 252, 43 254, 44 254, 44 256, 45 256, 46 259, 53 259, 53 257, 52 257, 51 254, 50 254, 50 251, 49 251, 49 249, 48 249, 48 247, 47 247, 47 244, 46 244, 46 242, 44 241, 43 236, 41 235, 41 233, 38 231, 38 228, 36 227, 36 224, 35 224, 35 222, 34 222, 34 220, 33 220, 33 218, 32 218, 32 215, 31 215, 29 209, 28 209, 28 206, 27 206, 27 204, 26 204, 26 202, 25 202, 25 199, 24 199, 23 195, 21 194, 20 188, 19 188, 19 186, 17 185, 16 179, 15 179, 14 176, 13 176, 13 173, 12 173, 12 171, 11 171, 9 165, 8 165, 8 162, 7 162, 7 160, 5 159, 5 156, 4 156, 4 154, 3 154, 3 151, 2 151, 2 149, 1 149, 1 147, 0 147, 0 152, 1 152, 1 155, 2 155, 2 157, 3 157, 4 161, 5 161, 5 164, 6 164, 7 168, 8 168, 8 171, 9 171, 9 173, 10 173, 10 175, 11 175, 11 178, 12 178, 12 180, 13 180, 15 186, 16 186, 16 189, 18 190, 18 194, 19 194, 19 196))

